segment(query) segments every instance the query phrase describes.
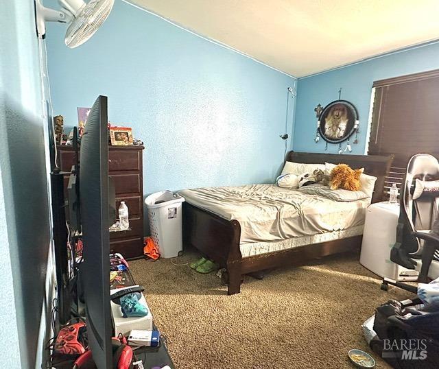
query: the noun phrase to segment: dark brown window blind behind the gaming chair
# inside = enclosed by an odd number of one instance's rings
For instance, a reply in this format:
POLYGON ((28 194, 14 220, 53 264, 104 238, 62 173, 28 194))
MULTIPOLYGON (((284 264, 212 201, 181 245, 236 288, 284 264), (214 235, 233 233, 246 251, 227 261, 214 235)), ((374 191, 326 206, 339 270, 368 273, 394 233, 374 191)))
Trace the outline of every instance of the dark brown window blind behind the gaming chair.
POLYGON ((385 187, 399 187, 408 160, 439 158, 439 70, 376 81, 368 154, 394 154, 385 187))

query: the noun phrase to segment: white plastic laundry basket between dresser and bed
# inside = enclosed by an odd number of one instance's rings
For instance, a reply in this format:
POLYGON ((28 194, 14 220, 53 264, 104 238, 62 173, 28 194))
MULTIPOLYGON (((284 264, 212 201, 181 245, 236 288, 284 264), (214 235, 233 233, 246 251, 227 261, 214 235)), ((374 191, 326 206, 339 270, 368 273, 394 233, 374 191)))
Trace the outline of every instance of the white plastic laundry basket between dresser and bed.
POLYGON ((153 193, 145 198, 151 237, 161 257, 177 257, 183 250, 182 202, 185 198, 172 191, 153 193))

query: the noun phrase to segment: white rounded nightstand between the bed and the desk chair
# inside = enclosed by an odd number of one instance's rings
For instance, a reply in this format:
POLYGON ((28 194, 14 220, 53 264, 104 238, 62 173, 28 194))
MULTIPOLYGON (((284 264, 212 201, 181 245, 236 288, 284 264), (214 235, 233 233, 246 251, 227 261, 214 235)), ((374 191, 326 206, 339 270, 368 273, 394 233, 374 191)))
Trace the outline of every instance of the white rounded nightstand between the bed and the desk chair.
POLYGON ((377 202, 368 206, 359 262, 381 277, 395 281, 416 281, 418 272, 390 261, 398 218, 399 204, 377 202))

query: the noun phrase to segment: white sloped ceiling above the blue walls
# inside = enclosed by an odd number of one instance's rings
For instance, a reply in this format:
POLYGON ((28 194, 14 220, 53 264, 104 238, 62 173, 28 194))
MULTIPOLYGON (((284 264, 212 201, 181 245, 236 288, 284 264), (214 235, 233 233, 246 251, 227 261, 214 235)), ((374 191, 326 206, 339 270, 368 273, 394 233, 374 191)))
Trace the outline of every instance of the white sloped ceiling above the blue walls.
POLYGON ((439 38, 438 0, 131 0, 296 77, 439 38))

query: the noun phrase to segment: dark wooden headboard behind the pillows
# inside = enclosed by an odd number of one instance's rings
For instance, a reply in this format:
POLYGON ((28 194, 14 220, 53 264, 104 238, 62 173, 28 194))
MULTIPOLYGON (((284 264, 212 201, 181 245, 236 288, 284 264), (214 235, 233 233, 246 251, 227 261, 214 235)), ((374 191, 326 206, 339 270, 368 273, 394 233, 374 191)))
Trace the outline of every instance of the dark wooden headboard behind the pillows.
POLYGON ((364 168, 365 174, 377 177, 375 189, 372 195, 372 202, 380 202, 384 196, 384 180, 394 159, 393 155, 339 155, 339 154, 318 154, 313 152, 294 152, 287 154, 287 161, 294 163, 324 164, 344 163, 353 169, 364 168))

